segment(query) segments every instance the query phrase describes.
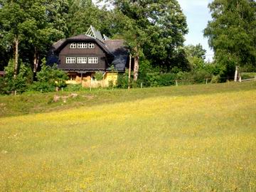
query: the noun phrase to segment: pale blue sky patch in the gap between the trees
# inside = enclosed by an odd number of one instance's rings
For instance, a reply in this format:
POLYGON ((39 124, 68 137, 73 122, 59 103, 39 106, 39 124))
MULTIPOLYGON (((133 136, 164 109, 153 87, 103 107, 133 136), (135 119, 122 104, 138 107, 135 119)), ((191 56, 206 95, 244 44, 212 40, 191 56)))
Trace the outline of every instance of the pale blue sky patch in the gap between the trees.
POLYGON ((207 50, 206 60, 212 60, 213 50, 208 46, 208 39, 203 38, 203 29, 206 28, 208 21, 211 20, 208 4, 213 0, 178 0, 183 14, 187 17, 188 34, 185 44, 196 45, 201 43, 207 50))

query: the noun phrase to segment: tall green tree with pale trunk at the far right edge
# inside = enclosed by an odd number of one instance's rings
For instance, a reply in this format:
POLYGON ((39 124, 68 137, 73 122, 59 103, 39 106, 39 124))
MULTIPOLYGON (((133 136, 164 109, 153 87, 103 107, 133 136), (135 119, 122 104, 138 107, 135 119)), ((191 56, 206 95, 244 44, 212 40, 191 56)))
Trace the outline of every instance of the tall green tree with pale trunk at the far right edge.
POLYGON ((231 75, 235 65, 256 67, 256 2, 215 0, 209 4, 213 21, 204 36, 215 51, 215 60, 231 75))

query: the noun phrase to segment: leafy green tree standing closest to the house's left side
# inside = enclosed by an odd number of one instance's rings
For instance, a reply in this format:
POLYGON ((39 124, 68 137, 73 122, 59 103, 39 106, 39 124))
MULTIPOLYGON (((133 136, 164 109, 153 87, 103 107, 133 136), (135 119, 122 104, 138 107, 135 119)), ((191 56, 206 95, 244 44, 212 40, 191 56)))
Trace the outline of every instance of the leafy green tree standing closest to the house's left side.
POLYGON ((29 0, 26 10, 31 26, 27 28, 27 41, 33 47, 33 72, 36 73, 40 55, 45 56, 50 46, 65 37, 68 1, 29 0))

